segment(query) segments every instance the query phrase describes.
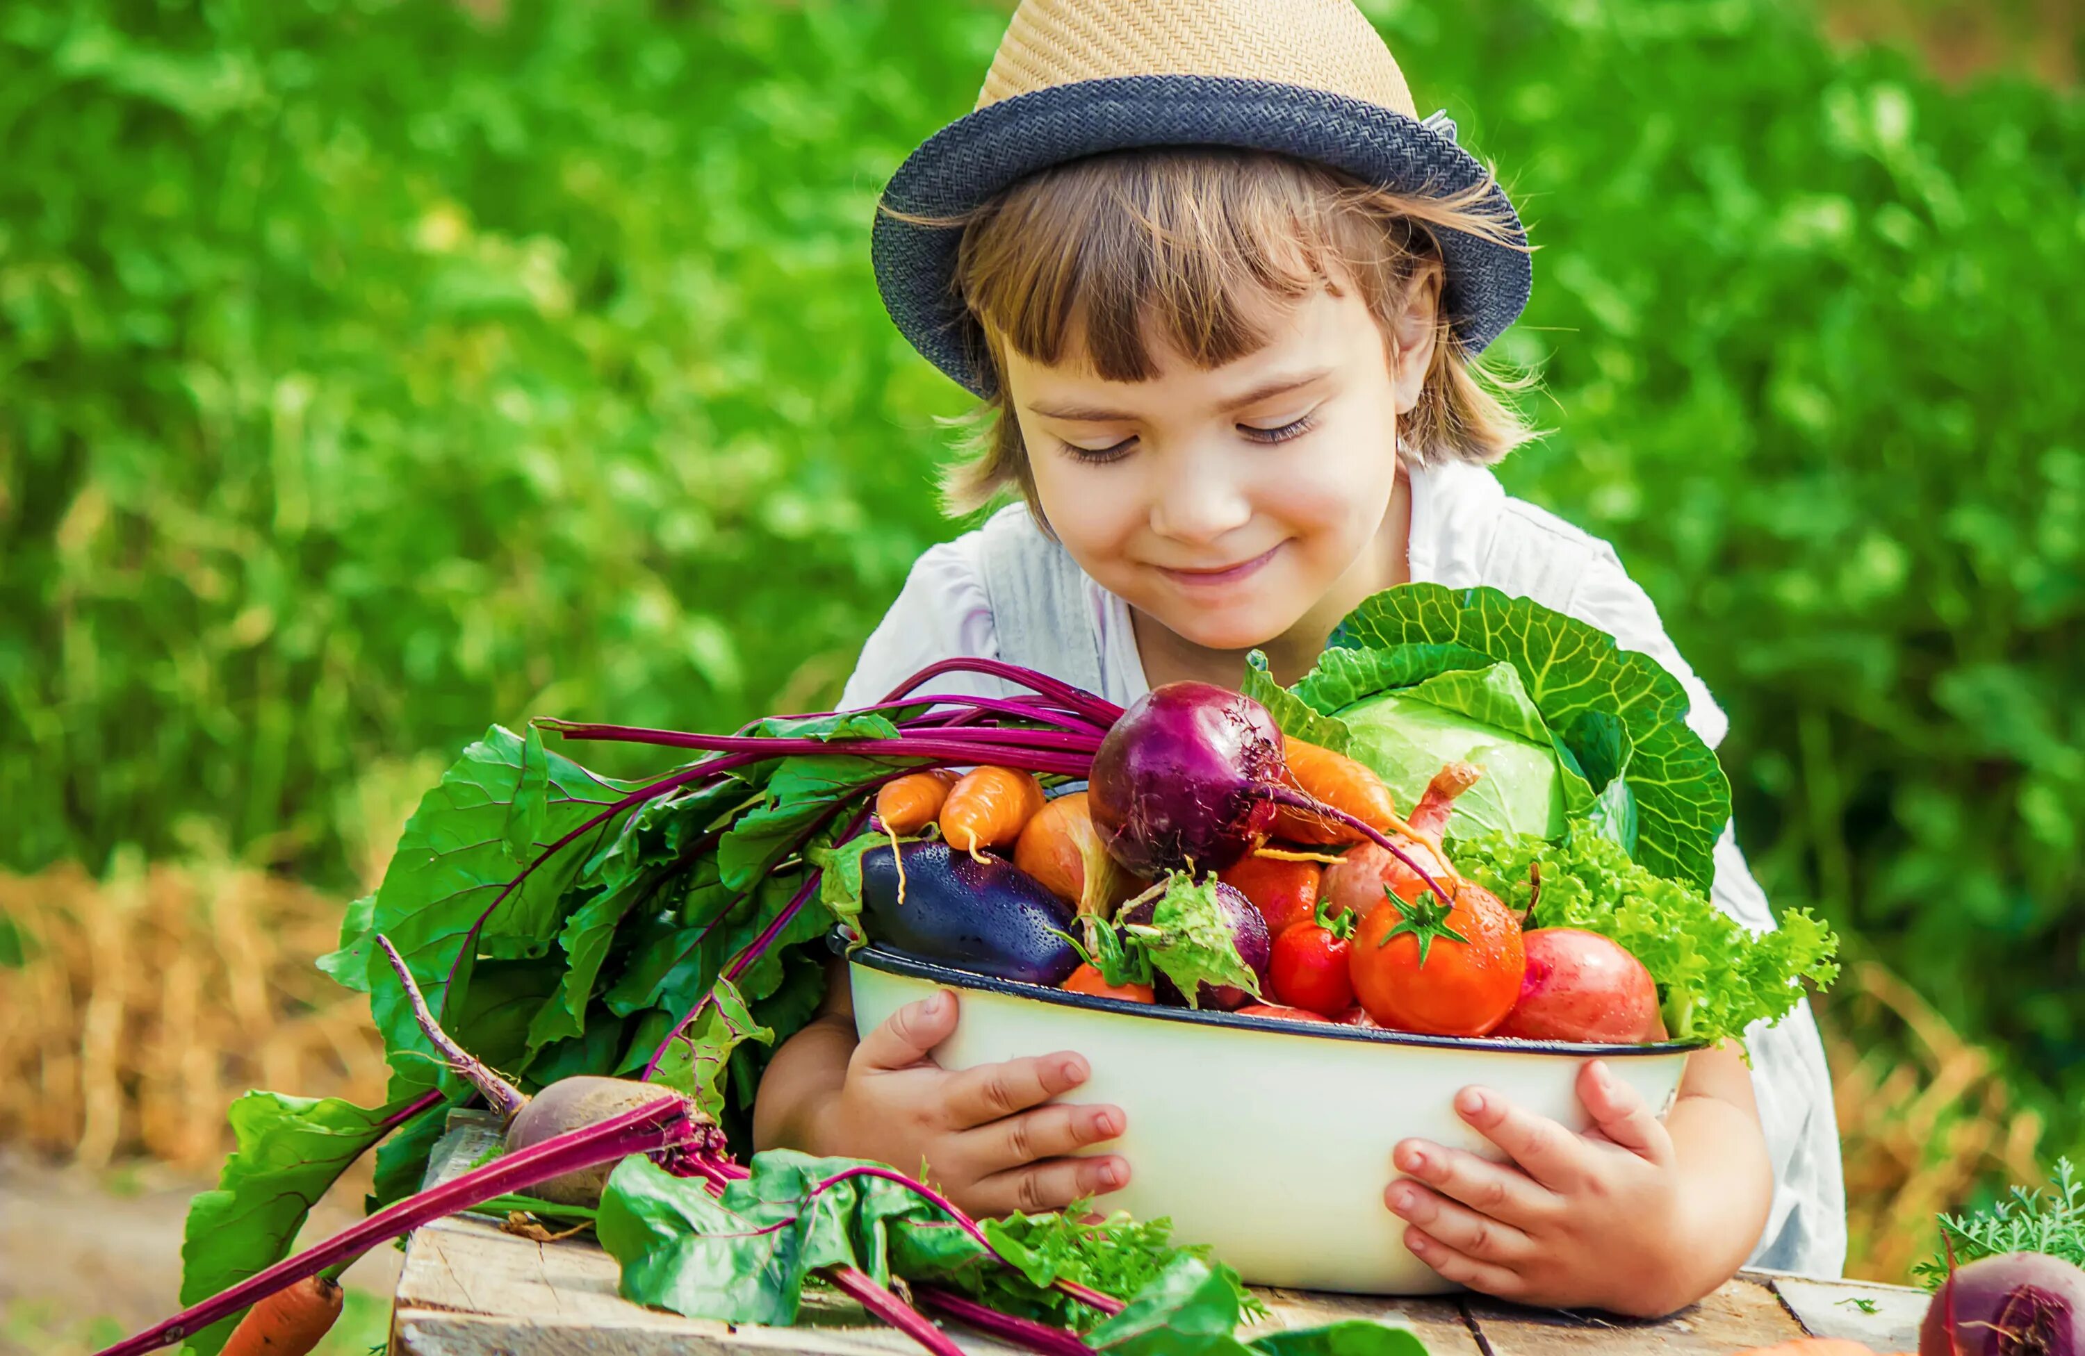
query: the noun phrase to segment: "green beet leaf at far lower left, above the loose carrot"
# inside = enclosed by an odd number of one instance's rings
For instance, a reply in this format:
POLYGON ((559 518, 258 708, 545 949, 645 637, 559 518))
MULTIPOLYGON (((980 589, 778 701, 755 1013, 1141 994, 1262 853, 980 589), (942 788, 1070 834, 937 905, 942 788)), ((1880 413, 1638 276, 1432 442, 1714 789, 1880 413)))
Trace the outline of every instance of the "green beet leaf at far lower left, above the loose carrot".
MULTIPOLYGON (((238 1144, 217 1175, 217 1187, 188 1206, 181 1229, 181 1304, 208 1300, 227 1285, 290 1256, 313 1202, 325 1196, 350 1162, 392 1129, 404 1102, 365 1108, 340 1098, 292 1098, 248 1091, 227 1119, 238 1144)), ((238 1316, 188 1339, 213 1356, 238 1316)))

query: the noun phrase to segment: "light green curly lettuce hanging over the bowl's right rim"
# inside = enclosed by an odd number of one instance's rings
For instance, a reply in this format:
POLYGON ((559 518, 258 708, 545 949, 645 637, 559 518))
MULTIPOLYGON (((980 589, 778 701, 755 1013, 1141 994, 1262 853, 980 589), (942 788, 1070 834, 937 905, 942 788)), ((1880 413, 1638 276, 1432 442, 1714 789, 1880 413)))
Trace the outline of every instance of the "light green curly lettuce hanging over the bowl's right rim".
POLYGON ((1808 910, 1781 914, 1756 933, 1706 894, 1653 875, 1583 821, 1562 842, 1491 835, 1449 844, 1455 867, 1507 908, 1535 896, 1535 927, 1583 927, 1612 937, 1658 981, 1666 1031, 1683 1041, 1737 1041, 1745 1027, 1787 1016, 1804 985, 1824 989, 1839 975, 1839 939, 1808 910))

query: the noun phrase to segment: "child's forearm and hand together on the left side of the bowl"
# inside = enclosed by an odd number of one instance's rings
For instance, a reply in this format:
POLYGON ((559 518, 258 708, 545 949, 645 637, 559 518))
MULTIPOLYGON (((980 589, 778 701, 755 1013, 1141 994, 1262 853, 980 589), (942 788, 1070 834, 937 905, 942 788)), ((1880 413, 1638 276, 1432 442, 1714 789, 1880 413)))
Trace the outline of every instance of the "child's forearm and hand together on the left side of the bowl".
POLYGON ((955 1031, 947 989, 855 1041, 844 966, 811 1023, 767 1064, 753 1104, 755 1148, 876 1158, 932 1181, 972 1214, 1057 1210, 1130 1179, 1118 1154, 1070 1158, 1122 1133, 1115 1106, 1045 1104, 1086 1081, 1059 1050, 949 1073, 928 1052, 955 1031))

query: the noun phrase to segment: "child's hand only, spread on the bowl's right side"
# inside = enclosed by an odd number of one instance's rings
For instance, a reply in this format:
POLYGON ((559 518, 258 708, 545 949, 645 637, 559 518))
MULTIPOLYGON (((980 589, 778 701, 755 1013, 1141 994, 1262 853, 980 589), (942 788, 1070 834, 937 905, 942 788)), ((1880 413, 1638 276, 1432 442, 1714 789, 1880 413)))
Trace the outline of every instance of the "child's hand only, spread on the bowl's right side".
POLYGON ((1399 1144, 1393 1160, 1418 1181, 1393 1181, 1384 1202, 1412 1225, 1405 1246, 1449 1281, 1522 1304, 1639 1316, 1691 1304, 1701 1287, 1683 1260, 1689 1183, 1672 1135, 1599 1060, 1578 1073, 1578 1100, 1593 1114, 1585 1135, 1462 1089, 1455 1110, 1512 1162, 1399 1144))

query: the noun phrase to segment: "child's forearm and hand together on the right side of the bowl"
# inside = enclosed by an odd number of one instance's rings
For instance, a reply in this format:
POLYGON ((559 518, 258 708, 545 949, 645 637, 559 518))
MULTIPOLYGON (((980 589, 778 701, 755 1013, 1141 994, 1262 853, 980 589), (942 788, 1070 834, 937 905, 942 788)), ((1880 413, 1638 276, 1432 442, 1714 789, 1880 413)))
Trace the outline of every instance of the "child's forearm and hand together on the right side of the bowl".
POLYGON ((1578 1075, 1593 1129, 1574 1135, 1499 1094, 1455 1110, 1510 1162, 1424 1139, 1397 1146, 1384 1202, 1405 1244, 1449 1281, 1505 1300, 1660 1316, 1728 1281, 1766 1229, 1774 1175, 1731 1046, 1687 1060, 1660 1123, 1599 1060, 1578 1075), (1426 1183, 1426 1185, 1420 1185, 1426 1183))

